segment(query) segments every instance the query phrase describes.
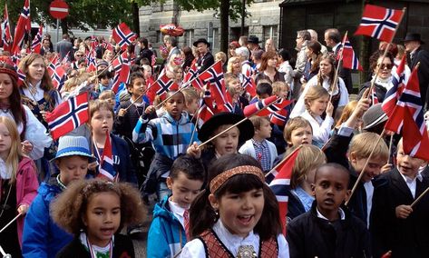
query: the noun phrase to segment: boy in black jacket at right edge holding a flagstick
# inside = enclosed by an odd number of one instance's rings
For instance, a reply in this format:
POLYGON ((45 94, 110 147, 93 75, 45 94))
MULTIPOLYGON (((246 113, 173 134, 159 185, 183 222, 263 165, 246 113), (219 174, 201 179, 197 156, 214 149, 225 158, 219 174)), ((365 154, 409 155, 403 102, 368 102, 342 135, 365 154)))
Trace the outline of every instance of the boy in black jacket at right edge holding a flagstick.
POLYGON ((405 154, 399 141, 396 168, 380 175, 375 187, 370 230, 374 257, 392 251, 392 257, 426 257, 429 252, 429 195, 411 203, 429 187, 419 173, 424 161, 405 154))

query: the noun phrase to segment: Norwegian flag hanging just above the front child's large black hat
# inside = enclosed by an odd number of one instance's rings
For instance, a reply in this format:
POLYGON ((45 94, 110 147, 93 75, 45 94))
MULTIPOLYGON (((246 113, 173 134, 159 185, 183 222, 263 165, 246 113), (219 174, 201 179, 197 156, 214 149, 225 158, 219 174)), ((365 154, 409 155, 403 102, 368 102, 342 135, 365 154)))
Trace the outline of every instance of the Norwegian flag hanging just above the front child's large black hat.
POLYGON ((220 61, 211 65, 198 76, 203 84, 209 84, 210 92, 216 100, 216 104, 226 104, 225 81, 223 79, 222 63, 220 61))

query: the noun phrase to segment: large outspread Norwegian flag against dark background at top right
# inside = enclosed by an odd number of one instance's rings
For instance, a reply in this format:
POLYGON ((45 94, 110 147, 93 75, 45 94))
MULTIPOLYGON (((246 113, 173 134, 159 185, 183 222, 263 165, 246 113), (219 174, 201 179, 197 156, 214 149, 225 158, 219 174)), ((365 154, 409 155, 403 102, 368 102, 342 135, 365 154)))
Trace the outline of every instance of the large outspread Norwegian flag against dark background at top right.
POLYGON ((381 41, 392 42, 403 14, 402 10, 365 5, 362 20, 355 35, 369 35, 381 41))

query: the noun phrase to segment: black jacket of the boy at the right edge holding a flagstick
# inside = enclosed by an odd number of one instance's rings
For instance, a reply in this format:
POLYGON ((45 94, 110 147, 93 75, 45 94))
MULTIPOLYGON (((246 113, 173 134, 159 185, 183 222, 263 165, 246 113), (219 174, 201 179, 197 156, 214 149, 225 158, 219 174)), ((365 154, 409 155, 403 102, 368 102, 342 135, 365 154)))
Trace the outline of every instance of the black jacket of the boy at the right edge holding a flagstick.
POLYGON ((427 257, 429 253, 429 195, 413 207, 406 219, 395 216, 399 205, 410 205, 429 186, 429 179, 423 176, 416 180, 415 198, 397 169, 377 178, 370 231, 373 238, 374 257, 392 251, 392 257, 427 257))

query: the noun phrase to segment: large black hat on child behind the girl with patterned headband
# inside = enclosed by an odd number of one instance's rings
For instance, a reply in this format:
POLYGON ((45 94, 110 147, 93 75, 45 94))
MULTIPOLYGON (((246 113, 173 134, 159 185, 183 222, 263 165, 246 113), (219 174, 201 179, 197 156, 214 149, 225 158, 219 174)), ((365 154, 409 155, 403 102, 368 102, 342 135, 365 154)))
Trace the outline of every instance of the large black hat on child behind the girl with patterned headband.
MULTIPOLYGON (((198 138, 201 142, 206 142, 210 137, 214 136, 214 131, 219 128, 220 125, 224 124, 237 124, 239 121, 243 120, 244 116, 239 114, 233 114, 229 112, 222 112, 219 114, 214 114, 210 119, 202 124, 200 131, 198 132, 198 138)), ((243 144, 247 140, 253 137, 255 134, 255 129, 250 120, 246 120, 243 123, 238 125, 239 128, 239 144, 243 144)))

